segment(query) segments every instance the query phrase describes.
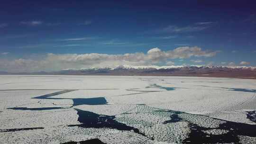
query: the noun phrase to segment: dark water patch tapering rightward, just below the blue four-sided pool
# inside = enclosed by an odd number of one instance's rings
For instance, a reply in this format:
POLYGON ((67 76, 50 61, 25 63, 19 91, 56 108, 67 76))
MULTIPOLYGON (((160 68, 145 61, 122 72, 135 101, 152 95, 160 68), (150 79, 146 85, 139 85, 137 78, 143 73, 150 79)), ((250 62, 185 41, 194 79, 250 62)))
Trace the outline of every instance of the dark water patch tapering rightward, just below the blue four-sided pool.
POLYGON ((113 128, 118 130, 125 130, 130 131, 133 130, 135 133, 145 136, 145 134, 140 133, 137 128, 132 126, 127 126, 126 124, 119 123, 118 121, 114 120, 115 116, 108 116, 108 115, 99 115, 90 111, 84 111, 81 109, 76 109, 77 115, 79 116, 77 121, 79 121, 80 125, 69 125, 69 126, 79 126, 84 128, 113 128))

